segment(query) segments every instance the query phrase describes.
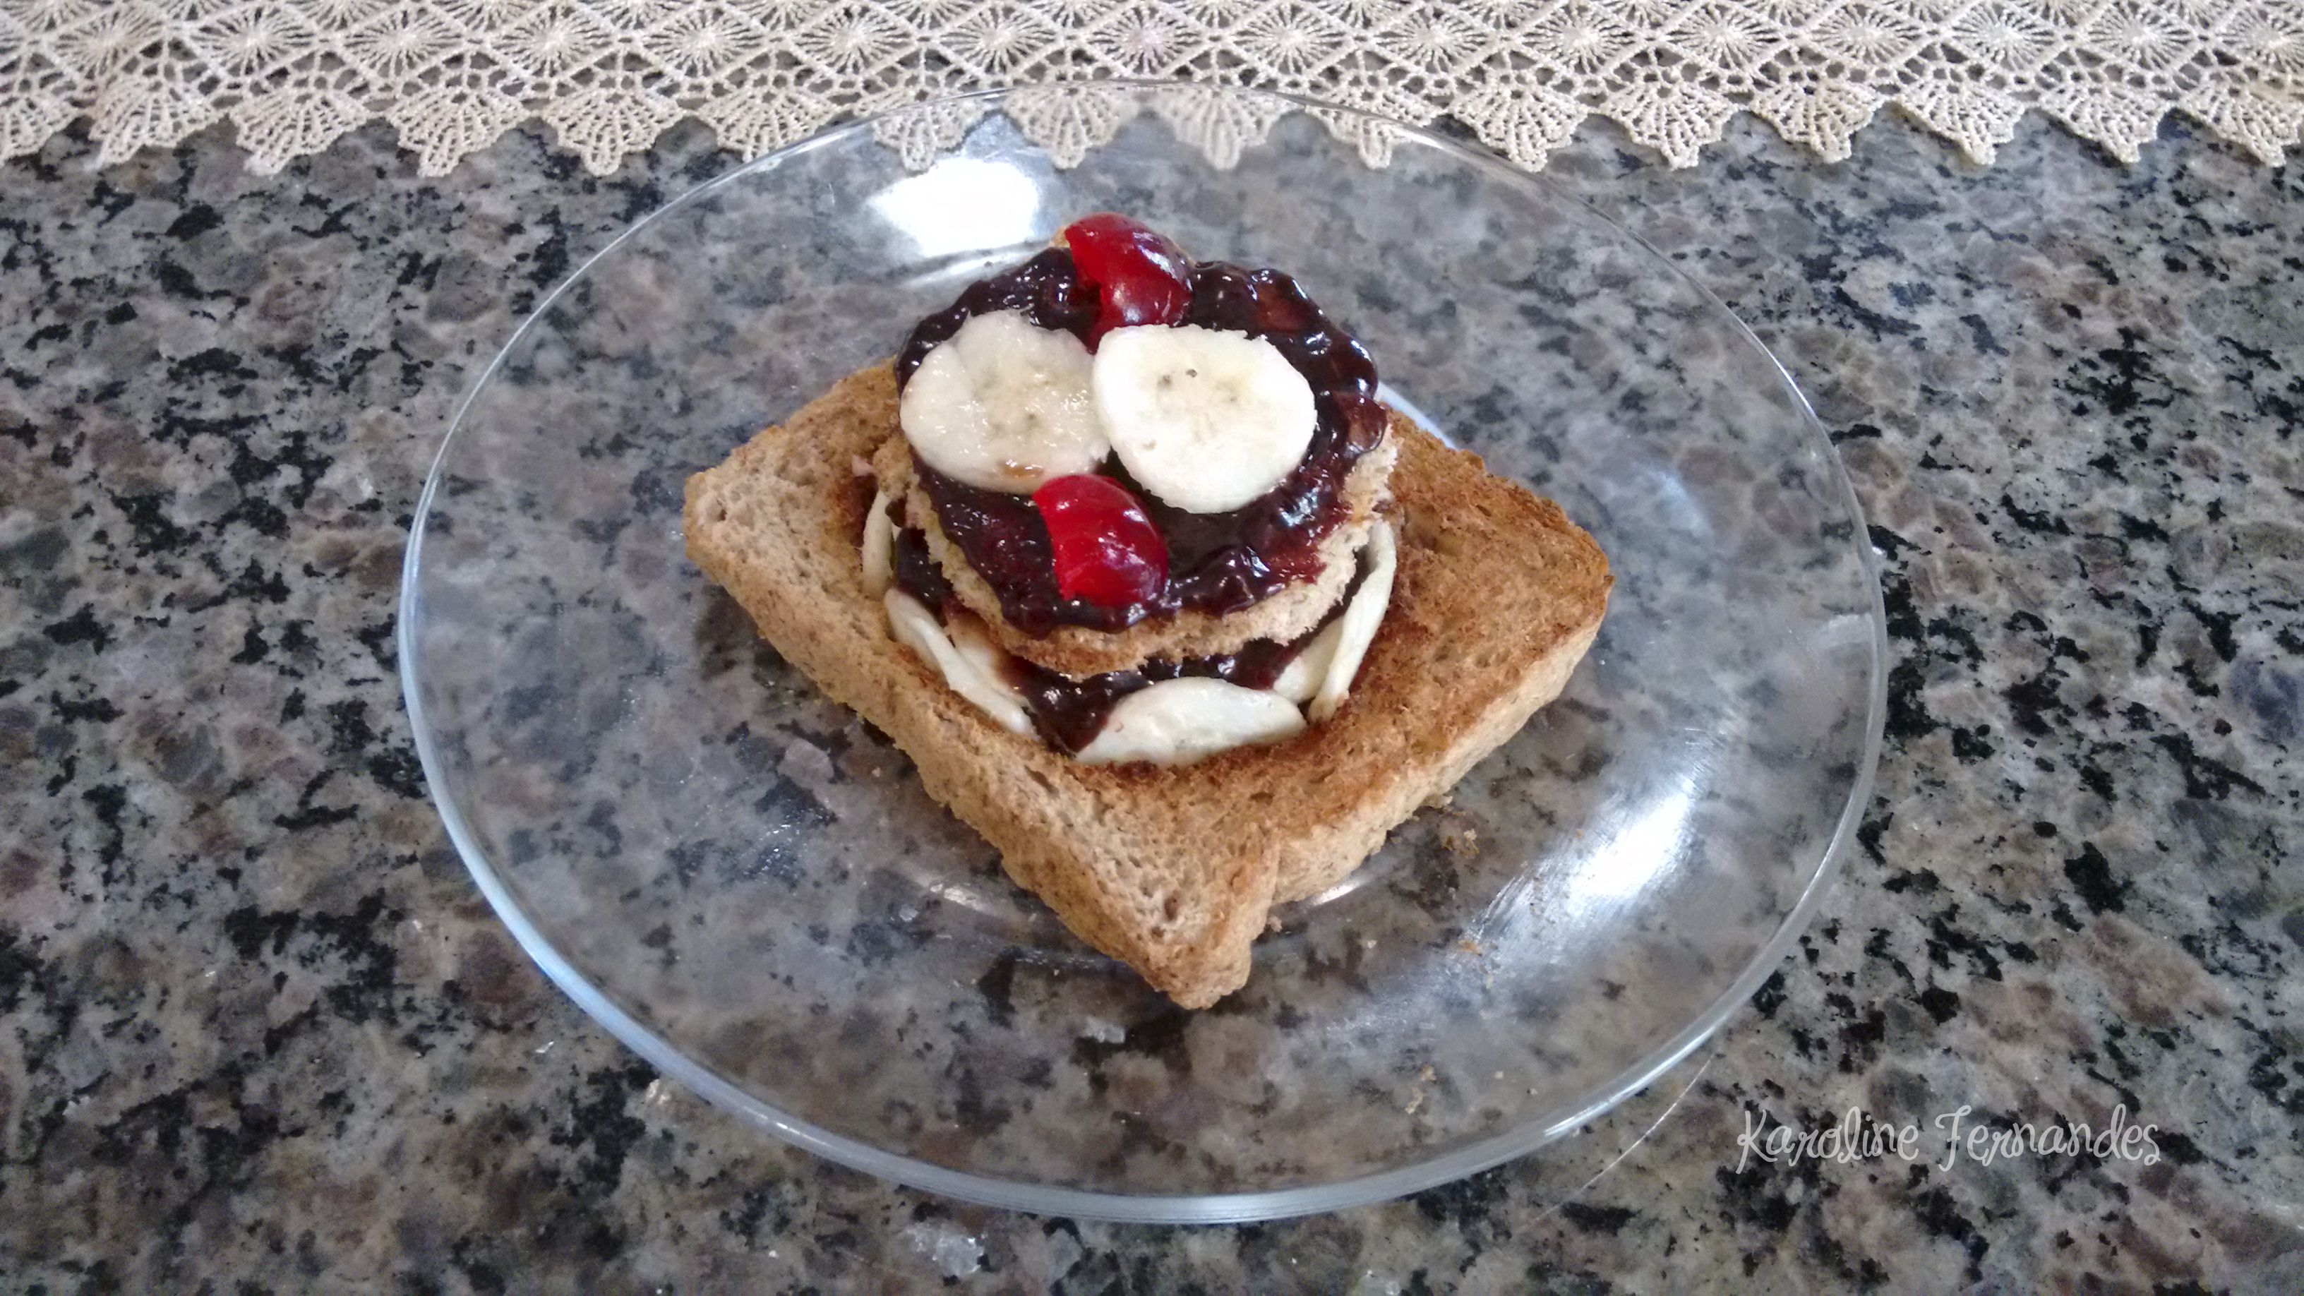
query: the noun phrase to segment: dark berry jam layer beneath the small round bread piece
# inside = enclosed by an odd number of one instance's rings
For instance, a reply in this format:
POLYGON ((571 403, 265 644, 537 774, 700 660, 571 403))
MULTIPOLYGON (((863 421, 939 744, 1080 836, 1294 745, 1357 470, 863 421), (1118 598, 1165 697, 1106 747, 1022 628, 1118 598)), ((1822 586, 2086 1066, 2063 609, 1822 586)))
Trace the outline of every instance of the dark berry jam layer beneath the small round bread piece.
MULTIPOLYGON (((1097 740, 1104 731, 1104 722, 1113 717, 1113 708, 1120 699, 1136 690, 1157 685, 1161 680, 1175 680, 1184 676, 1203 676, 1210 680, 1226 680, 1244 690, 1270 690, 1279 683, 1281 671, 1288 662, 1297 660, 1327 623, 1343 616, 1343 609, 1352 606, 1352 595, 1359 593, 1359 583, 1369 577, 1366 563, 1352 572, 1352 581, 1336 597, 1336 606, 1327 609, 1327 616, 1304 634, 1281 643, 1276 639, 1256 639, 1240 653, 1219 653, 1210 657, 1184 657, 1184 660, 1150 660, 1129 671, 1106 671, 1101 676, 1087 676, 1085 680, 1074 680, 1071 676, 1060 676, 1055 671, 1034 666, 1023 657, 1007 660, 1007 683, 1023 694, 1025 710, 1032 713, 1032 726, 1039 729, 1044 743, 1064 752, 1067 756, 1078 754, 1097 740)), ((935 570, 929 560, 929 542, 915 528, 896 530, 896 586, 929 604, 938 611, 940 620, 949 620, 961 606, 952 600, 952 586, 945 583, 945 574, 935 570), (908 556, 912 556, 908 560, 908 556)))

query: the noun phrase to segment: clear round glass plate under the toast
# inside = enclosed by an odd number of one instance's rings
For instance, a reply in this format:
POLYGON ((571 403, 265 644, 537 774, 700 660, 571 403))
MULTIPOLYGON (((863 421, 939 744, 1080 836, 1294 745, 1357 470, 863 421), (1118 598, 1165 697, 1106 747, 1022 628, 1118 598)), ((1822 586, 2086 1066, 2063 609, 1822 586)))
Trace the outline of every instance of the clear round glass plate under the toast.
POLYGON ((417 749, 544 971, 758 1125, 998 1206, 1327 1211, 1574 1130, 1776 966, 1880 745, 1855 496, 1719 300, 1438 136, 1193 95, 1270 138, 1223 168, 1154 111, 1058 166, 986 95, 924 171, 864 122, 682 196, 511 337, 408 544, 417 749), (1371 131, 1385 166, 1339 143, 1371 131), (689 473, 1092 210, 1295 272, 1617 577, 1567 694, 1207 1012, 1074 941, 682 553, 689 473))

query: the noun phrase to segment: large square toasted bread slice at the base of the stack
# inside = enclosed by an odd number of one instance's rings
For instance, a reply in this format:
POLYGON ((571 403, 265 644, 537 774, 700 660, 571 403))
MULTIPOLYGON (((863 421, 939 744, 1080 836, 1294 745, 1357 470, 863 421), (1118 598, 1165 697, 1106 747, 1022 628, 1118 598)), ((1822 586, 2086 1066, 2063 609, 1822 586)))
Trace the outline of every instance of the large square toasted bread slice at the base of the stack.
POLYGON ((689 558, 903 747, 1016 883, 1184 1008, 1246 982, 1272 904, 1352 872, 1558 696, 1608 606, 1608 560, 1560 507, 1394 424, 1399 574, 1343 710, 1196 766, 1081 766, 947 690, 864 590, 876 484, 857 464, 894 429, 892 392, 885 364, 852 374, 689 477, 689 558))

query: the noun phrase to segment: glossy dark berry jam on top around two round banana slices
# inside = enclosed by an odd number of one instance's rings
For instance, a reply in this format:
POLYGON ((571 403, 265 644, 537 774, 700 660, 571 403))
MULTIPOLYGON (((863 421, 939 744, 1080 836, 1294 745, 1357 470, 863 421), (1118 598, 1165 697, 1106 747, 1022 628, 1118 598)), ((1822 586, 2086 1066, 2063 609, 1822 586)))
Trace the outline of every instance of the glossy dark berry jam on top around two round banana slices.
MULTIPOLYGON (((949 309, 919 321, 896 355, 896 380, 908 380, 922 357, 970 316, 1005 309, 1085 339, 1097 316, 1097 291, 1078 281, 1069 251, 1041 251, 972 284, 949 309)), ((1187 609, 1228 616, 1320 574, 1320 542, 1343 521, 1343 477, 1385 438, 1375 362, 1279 270, 1196 263, 1182 323, 1270 339, 1311 385, 1318 422, 1295 470, 1233 512, 1168 507, 1138 487, 1117 459, 1106 461, 1104 473, 1143 500, 1168 542, 1168 583, 1157 595, 1122 606, 1058 595, 1048 528, 1030 496, 954 482, 915 457, 945 535, 1000 595, 1000 613, 1023 634, 1048 634, 1060 625, 1127 630, 1187 609)))

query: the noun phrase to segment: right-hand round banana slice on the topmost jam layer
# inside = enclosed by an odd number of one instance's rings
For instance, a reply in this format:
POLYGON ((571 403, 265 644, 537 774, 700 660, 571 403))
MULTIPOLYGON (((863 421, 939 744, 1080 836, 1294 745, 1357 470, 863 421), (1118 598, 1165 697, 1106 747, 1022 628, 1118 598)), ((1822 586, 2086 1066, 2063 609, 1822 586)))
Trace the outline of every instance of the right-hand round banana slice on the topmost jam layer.
POLYGON ((1184 512, 1253 500, 1311 445, 1311 385, 1279 348, 1244 332, 1115 327, 1097 344, 1092 385, 1120 461, 1184 512))

